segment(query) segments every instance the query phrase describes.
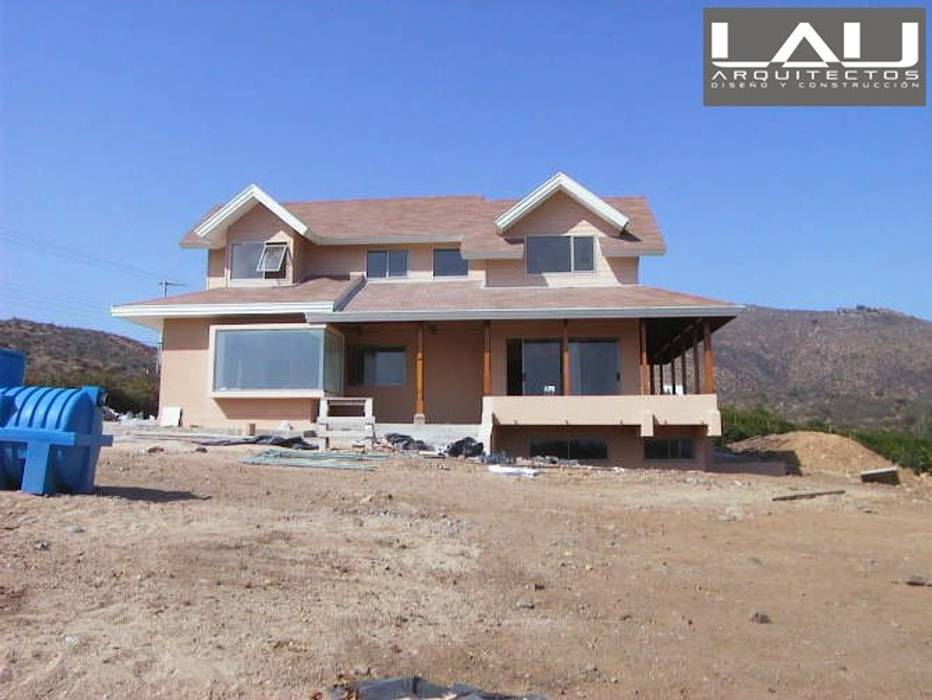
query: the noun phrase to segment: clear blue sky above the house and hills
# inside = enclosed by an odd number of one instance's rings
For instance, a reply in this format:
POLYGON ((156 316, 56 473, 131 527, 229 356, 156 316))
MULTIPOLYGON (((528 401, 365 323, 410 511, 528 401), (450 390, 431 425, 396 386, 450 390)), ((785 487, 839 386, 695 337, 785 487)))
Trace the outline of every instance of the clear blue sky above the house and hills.
POLYGON ((650 197, 646 284, 932 318, 929 108, 704 108, 705 4, 2 0, 0 318, 154 340, 107 306, 200 288, 177 240, 249 182, 516 197, 557 169, 650 197))

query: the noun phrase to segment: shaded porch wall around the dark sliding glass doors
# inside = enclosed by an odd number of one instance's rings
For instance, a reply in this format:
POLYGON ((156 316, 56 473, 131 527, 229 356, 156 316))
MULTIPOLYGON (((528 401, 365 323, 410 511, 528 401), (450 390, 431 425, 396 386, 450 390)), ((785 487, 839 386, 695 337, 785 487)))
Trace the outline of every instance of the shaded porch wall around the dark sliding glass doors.
MULTIPOLYGON (((507 341, 509 338, 561 338, 560 321, 492 321, 492 394, 508 393, 507 341)), ((617 321, 570 321, 570 339, 618 338, 618 367, 621 372, 622 394, 641 391, 641 369, 638 359, 638 322, 636 319, 617 321)))

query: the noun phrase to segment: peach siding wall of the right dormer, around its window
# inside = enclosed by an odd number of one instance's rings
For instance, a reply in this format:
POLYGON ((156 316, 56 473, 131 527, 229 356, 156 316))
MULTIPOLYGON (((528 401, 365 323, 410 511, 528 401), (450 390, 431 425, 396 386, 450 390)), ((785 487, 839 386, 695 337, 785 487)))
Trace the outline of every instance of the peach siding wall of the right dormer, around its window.
MULTIPOLYGON (((613 235, 607 223, 558 192, 508 230, 508 238, 534 235, 583 234, 596 238, 613 235)), ((606 258, 598 240, 595 242, 593 272, 560 272, 528 275, 527 260, 489 260, 486 263, 486 286, 489 287, 595 287, 637 284, 638 258, 606 258)))

